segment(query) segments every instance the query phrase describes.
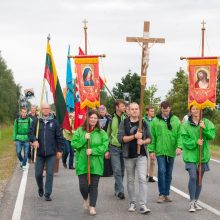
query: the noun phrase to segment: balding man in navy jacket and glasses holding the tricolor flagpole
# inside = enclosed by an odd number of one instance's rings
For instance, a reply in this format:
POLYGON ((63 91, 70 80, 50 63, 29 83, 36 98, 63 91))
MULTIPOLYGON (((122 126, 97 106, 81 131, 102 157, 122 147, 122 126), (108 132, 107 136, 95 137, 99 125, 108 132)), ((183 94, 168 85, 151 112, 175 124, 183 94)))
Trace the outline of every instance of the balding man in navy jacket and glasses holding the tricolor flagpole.
MULTIPOLYGON (((38 194, 40 197, 45 196, 46 201, 51 201, 53 188, 53 171, 56 153, 62 152, 64 139, 58 121, 51 114, 50 105, 42 105, 42 117, 39 122, 39 135, 36 138, 38 120, 33 121, 29 138, 33 142, 34 148, 37 149, 37 158, 35 164, 35 178, 38 185, 38 194), (43 186, 43 168, 46 163, 46 182, 43 186)), ((58 154, 59 154, 58 153, 58 154)))

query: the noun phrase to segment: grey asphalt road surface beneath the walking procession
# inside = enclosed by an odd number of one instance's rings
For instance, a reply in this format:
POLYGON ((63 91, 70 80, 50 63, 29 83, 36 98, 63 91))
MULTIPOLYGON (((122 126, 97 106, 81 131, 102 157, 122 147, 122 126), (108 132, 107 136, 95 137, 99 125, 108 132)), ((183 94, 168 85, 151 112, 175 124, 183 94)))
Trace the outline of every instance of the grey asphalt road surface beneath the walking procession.
MULTIPOLYGON (((211 172, 205 174, 203 190, 200 200, 220 211, 220 163, 210 162, 211 172)), ((23 171, 17 167, 7 185, 5 195, 0 204, 0 220, 11 220, 17 199, 23 171)), ((172 185, 187 193, 188 174, 184 170, 181 158, 175 161, 172 185)), ((126 181, 125 181, 126 182, 126 181)), ((128 195, 125 200, 118 200, 113 194, 113 177, 101 178, 97 201, 97 215, 89 216, 82 208, 82 198, 78 187, 78 178, 75 171, 64 169, 60 164, 58 176, 54 177, 53 201, 46 202, 37 193, 34 178, 34 165, 30 164, 27 185, 21 212, 21 220, 198 220, 220 219, 207 209, 196 213, 188 212, 188 200, 181 195, 171 192, 172 203, 157 204, 157 183, 148 184, 148 207, 151 214, 141 215, 137 212, 129 213, 128 195)), ((126 188, 126 187, 125 187, 126 188)), ((137 188, 138 192, 138 188, 137 188)))

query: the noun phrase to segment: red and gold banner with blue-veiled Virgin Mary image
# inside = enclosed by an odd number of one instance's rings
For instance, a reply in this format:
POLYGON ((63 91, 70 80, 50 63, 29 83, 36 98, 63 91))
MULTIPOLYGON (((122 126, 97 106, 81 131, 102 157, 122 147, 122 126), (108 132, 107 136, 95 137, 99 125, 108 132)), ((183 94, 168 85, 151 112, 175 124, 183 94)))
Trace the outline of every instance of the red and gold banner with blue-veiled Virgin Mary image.
POLYGON ((99 79, 99 57, 76 56, 74 61, 79 86, 80 107, 98 107, 102 86, 99 79))

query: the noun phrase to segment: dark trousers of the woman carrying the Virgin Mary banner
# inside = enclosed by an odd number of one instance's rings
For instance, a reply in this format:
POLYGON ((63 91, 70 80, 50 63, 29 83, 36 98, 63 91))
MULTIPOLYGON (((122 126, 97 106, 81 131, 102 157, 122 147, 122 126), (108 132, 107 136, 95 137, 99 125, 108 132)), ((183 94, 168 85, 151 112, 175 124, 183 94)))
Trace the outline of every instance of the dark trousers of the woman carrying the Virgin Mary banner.
POLYGON ((90 185, 88 185, 88 174, 79 175, 78 178, 79 178, 79 189, 83 199, 87 200, 89 196, 89 205, 92 207, 96 207, 100 176, 91 174, 90 185))

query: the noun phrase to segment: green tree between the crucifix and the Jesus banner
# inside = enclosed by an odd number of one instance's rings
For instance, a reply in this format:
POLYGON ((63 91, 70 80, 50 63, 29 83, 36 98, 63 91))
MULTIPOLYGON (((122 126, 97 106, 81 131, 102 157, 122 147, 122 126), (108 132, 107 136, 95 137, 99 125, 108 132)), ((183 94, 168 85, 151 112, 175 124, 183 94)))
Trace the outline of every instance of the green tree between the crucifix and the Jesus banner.
POLYGON ((172 88, 166 95, 166 99, 172 106, 172 112, 183 118, 188 109, 188 76, 180 69, 171 81, 172 88))

